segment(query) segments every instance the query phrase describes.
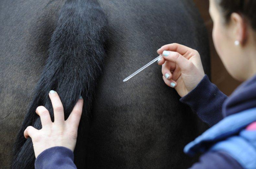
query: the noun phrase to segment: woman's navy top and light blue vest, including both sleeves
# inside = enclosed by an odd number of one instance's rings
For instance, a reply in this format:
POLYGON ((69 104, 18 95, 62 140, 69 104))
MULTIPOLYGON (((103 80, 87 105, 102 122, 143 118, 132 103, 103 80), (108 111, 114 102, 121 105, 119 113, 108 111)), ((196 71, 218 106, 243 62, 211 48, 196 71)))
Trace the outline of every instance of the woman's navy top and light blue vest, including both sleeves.
MULTIPOLYGON (((254 167, 251 159, 256 157, 256 131, 247 132, 244 128, 256 121, 256 76, 244 82, 227 97, 205 75, 180 101, 189 105, 205 123, 213 126, 184 148, 184 152, 190 155, 204 153, 199 162, 192 165, 192 169, 254 167), (241 151, 243 155, 239 156, 241 151)), ((35 168, 72 169, 76 168, 73 160, 71 150, 52 147, 39 154, 35 168)))

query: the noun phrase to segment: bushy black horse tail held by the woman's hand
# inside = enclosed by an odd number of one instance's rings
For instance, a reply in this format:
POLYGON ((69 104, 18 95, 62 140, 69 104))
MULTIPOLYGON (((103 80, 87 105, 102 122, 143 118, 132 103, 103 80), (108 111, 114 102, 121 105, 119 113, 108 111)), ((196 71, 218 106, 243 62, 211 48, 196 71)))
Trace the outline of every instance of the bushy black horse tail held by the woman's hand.
MULTIPOLYGON (((28 126, 41 129, 35 110, 46 107, 53 120, 48 93, 55 90, 64 106, 65 119, 75 106, 80 94, 84 98, 81 125, 87 122, 107 40, 107 19, 96 0, 67 0, 62 6, 49 46, 49 56, 38 81, 33 99, 18 132, 13 148, 11 168, 34 168, 31 139, 25 139, 28 126)), ((43 64, 43 63, 42 63, 43 64)))

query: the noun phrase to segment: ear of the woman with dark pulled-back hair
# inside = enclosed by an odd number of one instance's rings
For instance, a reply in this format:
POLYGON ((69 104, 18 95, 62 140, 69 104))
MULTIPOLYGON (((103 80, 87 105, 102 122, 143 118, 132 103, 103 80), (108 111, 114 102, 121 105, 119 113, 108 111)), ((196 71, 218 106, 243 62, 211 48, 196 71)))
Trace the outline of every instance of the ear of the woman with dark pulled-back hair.
POLYGON ((238 13, 232 13, 230 16, 232 24, 233 36, 235 40, 239 41, 241 45, 244 45, 247 39, 247 25, 246 20, 238 13))

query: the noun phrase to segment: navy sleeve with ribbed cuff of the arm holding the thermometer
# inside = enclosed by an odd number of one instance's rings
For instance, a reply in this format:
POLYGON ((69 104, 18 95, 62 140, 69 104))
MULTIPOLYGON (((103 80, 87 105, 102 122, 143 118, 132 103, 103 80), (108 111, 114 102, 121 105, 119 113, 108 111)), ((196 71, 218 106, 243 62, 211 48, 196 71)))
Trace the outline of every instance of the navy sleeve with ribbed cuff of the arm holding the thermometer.
POLYGON ((199 84, 180 101, 190 106, 201 120, 213 126, 223 119, 222 105, 226 99, 227 96, 205 74, 199 84))

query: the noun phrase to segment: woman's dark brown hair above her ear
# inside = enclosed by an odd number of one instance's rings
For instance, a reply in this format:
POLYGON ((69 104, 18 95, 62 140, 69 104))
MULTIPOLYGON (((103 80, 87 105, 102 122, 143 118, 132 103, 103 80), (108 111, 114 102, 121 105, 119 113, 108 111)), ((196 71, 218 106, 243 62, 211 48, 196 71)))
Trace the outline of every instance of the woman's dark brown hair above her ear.
POLYGON ((256 30, 256 0, 216 0, 228 22, 233 12, 245 17, 251 27, 256 30))

